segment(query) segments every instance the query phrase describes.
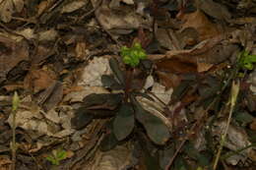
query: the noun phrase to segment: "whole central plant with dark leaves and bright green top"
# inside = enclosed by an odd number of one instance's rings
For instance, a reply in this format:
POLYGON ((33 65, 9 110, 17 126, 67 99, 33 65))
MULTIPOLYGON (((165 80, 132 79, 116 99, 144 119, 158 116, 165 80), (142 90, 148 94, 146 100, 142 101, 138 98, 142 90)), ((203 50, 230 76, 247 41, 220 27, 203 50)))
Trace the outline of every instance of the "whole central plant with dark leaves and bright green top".
POLYGON ((77 129, 81 129, 95 118, 111 117, 107 126, 110 133, 105 135, 100 144, 102 150, 110 149, 124 140, 138 140, 134 137, 143 132, 146 132, 152 142, 164 144, 170 137, 168 128, 159 117, 145 110, 136 98, 145 96, 154 100, 141 92, 142 87, 138 88, 138 85, 135 85, 135 72, 142 70, 140 61, 146 59, 146 52, 140 43, 134 43, 131 48, 123 47, 121 56, 127 65, 126 69, 122 71, 117 60, 111 58, 109 65, 113 75, 103 75, 101 81, 104 87, 110 90, 121 89, 122 92, 86 96, 83 106, 77 110, 76 117, 72 119, 72 124, 77 129))

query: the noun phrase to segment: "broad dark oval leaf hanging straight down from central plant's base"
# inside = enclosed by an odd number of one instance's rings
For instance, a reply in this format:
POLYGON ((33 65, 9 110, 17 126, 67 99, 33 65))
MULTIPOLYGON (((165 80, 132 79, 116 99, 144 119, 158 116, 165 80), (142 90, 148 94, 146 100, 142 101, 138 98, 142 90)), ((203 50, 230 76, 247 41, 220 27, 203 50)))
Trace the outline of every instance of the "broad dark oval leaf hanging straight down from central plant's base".
POLYGON ((134 122, 132 105, 129 103, 123 104, 113 122, 113 133, 118 141, 124 140, 131 134, 134 122))

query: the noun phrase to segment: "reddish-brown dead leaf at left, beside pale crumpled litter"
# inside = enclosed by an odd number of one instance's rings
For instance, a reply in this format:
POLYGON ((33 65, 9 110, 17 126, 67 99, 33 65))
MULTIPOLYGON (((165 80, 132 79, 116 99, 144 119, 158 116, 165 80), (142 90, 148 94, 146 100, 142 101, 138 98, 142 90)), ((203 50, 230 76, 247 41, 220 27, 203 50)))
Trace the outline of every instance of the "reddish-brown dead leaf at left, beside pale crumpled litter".
POLYGON ((53 84, 55 79, 56 75, 50 71, 45 71, 42 69, 32 70, 26 76, 24 80, 24 86, 25 88, 31 89, 34 93, 36 93, 53 84))

